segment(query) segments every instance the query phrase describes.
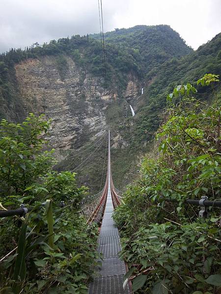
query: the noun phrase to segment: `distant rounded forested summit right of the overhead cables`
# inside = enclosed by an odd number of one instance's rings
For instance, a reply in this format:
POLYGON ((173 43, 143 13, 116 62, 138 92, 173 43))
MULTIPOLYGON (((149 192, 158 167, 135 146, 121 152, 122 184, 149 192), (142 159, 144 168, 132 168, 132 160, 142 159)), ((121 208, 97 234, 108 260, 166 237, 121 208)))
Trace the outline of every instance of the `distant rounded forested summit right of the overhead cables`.
MULTIPOLYGON (((99 39, 99 34, 91 35, 99 39)), ((193 52, 180 35, 169 25, 136 25, 104 34, 107 46, 112 44, 124 52, 138 56, 140 70, 148 73, 171 57, 181 57, 193 52)), ((108 50, 107 50, 108 52, 108 50)))

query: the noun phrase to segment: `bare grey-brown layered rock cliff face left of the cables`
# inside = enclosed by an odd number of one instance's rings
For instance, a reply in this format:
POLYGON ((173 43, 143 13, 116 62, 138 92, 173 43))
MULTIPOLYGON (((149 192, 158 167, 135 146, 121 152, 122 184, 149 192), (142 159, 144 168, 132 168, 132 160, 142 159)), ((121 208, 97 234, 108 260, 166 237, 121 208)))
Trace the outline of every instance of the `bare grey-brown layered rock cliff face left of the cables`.
POLYGON ((83 72, 71 58, 66 60, 63 80, 52 57, 16 65, 25 109, 52 119, 49 140, 56 150, 78 149, 87 139, 96 139, 106 126, 106 97, 102 97, 99 80, 83 72))

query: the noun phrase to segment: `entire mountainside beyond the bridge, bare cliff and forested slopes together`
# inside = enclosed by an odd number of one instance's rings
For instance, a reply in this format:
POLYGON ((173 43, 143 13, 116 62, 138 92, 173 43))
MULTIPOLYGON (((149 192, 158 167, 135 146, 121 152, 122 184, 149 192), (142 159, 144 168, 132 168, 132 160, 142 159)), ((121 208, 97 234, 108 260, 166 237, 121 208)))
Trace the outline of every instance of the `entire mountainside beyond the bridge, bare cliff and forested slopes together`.
MULTIPOLYGON (((161 122, 167 91, 178 77, 186 74, 188 78, 190 66, 195 78, 206 73, 209 65, 217 64, 220 35, 193 51, 167 25, 106 33, 108 93, 98 37, 76 35, 1 54, 0 117, 21 121, 31 111, 52 118, 49 140, 55 147, 59 170, 81 165, 93 149, 81 156, 75 154, 98 140, 110 123, 113 177, 116 186, 124 186, 130 181, 125 174, 133 172, 138 156, 148 149, 147 142, 161 122), (129 103, 136 109, 134 118, 129 103)), ((77 169, 81 182, 94 190, 100 187, 105 144, 102 141, 89 162, 77 169)))

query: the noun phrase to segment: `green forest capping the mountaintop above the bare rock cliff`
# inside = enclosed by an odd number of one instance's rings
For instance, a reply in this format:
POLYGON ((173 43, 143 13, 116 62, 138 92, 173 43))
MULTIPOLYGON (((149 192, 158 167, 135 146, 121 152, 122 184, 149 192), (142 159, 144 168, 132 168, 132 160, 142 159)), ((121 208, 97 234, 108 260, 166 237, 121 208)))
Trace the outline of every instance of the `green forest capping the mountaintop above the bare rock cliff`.
MULTIPOLYGON (((126 89, 129 74, 142 80, 145 73, 169 58, 192 52, 178 33, 167 25, 122 29, 117 31, 117 39, 114 32, 106 33, 105 39, 107 87, 116 89, 120 97, 126 89)), ((5 112, 10 112, 10 102, 16 104, 21 95, 16 87, 14 66, 21 61, 41 59, 47 55, 55 56, 55 65, 62 80, 67 69, 65 56, 70 56, 83 71, 100 78, 104 85, 101 42, 97 35, 75 35, 52 40, 42 46, 35 43, 25 50, 10 49, 0 54, 0 100, 4 104, 1 118, 5 118, 5 112)), ((17 105, 16 108, 19 113, 16 120, 19 121, 25 114, 22 106, 17 105)))

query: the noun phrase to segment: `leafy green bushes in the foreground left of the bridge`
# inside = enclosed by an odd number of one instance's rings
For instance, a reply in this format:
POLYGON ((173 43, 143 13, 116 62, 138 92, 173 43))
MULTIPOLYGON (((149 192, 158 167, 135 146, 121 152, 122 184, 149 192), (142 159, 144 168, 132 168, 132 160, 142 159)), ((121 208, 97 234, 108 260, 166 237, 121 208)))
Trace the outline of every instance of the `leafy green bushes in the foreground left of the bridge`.
POLYGON ((49 126, 33 114, 23 123, 0 122, 0 208, 31 208, 0 219, 2 294, 87 294, 96 266, 96 229, 80 214, 87 188, 77 187, 75 173, 52 170, 53 150, 44 151, 42 137, 49 126), (71 204, 60 208, 61 200, 71 204))

